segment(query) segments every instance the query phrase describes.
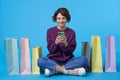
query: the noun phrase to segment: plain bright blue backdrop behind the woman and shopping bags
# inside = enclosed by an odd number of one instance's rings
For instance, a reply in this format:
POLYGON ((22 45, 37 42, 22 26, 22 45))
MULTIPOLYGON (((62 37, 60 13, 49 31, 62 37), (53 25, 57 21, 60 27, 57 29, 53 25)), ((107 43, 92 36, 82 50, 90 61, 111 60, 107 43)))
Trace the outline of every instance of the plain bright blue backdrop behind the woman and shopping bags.
MULTIPOLYGON (((59 7, 66 7, 71 14, 71 22, 67 25, 76 32, 75 56, 81 55, 82 41, 91 43, 91 36, 98 35, 101 38, 104 64, 106 37, 113 35, 118 70, 114 74, 120 73, 120 0, 0 0, 0 76, 3 76, 3 80, 9 78, 4 38, 17 38, 19 42, 23 37, 29 38, 31 52, 33 47, 41 46, 42 54, 46 56, 46 31, 57 25, 52 21, 52 16, 59 7)), ((110 75, 107 74, 106 78, 110 75)), ((95 77, 99 78, 98 75, 95 77)))

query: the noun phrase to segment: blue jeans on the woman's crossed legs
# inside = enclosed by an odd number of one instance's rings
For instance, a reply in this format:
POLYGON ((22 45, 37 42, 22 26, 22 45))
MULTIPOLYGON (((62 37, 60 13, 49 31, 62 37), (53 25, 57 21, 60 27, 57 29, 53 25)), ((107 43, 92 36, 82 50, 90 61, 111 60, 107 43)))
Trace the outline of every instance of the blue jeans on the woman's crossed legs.
POLYGON ((77 58, 71 58, 67 62, 59 62, 44 57, 44 58, 39 58, 37 63, 40 68, 47 68, 50 69, 51 71, 55 71, 55 67, 57 65, 64 66, 66 70, 80 68, 80 67, 85 68, 87 66, 88 60, 86 57, 81 56, 77 58))

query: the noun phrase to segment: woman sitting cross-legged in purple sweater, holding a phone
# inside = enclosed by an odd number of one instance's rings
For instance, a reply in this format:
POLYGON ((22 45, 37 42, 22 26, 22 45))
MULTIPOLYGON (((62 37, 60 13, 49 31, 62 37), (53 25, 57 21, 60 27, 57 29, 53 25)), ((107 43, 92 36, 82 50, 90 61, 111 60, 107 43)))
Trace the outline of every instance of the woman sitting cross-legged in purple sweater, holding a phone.
POLYGON ((45 68, 45 75, 55 73, 85 75, 87 58, 84 56, 74 58, 76 48, 75 32, 66 26, 71 19, 66 8, 59 8, 53 16, 57 26, 47 30, 47 48, 49 54, 46 58, 38 59, 38 66, 45 68))

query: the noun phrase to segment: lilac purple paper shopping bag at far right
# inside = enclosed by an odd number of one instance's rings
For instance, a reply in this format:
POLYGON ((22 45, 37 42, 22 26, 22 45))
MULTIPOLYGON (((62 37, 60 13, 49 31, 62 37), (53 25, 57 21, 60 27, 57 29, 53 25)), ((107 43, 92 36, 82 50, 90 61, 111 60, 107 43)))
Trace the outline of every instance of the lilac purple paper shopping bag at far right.
POLYGON ((114 36, 108 36, 106 40, 105 72, 116 72, 116 52, 114 36))

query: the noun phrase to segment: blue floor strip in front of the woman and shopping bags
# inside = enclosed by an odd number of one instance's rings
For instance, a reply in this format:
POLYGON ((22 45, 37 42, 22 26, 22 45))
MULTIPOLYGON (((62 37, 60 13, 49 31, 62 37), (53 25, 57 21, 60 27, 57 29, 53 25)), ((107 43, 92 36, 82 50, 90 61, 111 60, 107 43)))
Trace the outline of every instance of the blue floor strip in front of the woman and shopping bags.
POLYGON ((44 74, 40 75, 8 75, 6 67, 0 66, 0 80, 119 80, 120 69, 117 72, 103 72, 103 73, 87 73, 85 76, 72 75, 53 75, 46 77, 44 74))

